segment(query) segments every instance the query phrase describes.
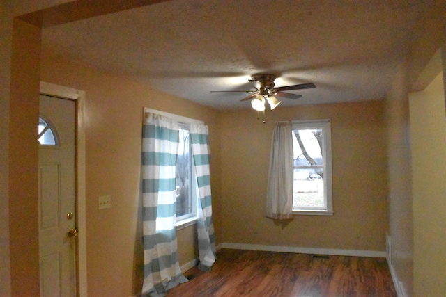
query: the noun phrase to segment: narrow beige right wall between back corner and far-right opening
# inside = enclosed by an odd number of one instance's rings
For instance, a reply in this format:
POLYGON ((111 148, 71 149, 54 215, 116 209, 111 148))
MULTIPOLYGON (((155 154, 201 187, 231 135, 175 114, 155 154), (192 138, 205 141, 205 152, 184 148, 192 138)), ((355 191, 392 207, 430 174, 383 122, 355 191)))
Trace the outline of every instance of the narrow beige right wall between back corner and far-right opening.
POLYGON ((410 164, 408 64, 401 63, 386 100, 389 166, 390 255, 395 276, 408 296, 413 287, 413 214, 410 164))

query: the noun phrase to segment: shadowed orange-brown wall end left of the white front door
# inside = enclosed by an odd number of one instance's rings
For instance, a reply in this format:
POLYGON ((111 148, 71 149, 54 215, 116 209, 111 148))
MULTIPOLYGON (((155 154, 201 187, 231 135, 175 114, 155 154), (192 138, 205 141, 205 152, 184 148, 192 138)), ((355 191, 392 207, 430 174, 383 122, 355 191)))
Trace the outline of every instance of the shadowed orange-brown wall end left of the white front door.
POLYGON ((38 246, 38 65, 40 28, 14 20, 9 106, 9 214, 11 289, 39 291, 38 246), (29 50, 26 51, 26 49, 29 50), (26 82, 26 83, 24 83, 26 82), (36 118, 37 116, 37 118, 36 118), (24 220, 26 218, 26 220, 24 220), (30 275, 27 282, 23 278, 30 275))

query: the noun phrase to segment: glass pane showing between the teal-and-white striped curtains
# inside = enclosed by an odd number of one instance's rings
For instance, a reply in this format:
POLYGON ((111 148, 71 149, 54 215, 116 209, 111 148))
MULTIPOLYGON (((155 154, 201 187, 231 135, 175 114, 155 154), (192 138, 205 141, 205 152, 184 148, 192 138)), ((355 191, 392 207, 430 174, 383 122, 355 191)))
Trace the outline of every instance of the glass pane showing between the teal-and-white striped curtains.
POLYGON ((189 131, 180 129, 180 143, 176 163, 176 216, 184 216, 192 213, 191 179, 191 154, 189 143, 189 131))

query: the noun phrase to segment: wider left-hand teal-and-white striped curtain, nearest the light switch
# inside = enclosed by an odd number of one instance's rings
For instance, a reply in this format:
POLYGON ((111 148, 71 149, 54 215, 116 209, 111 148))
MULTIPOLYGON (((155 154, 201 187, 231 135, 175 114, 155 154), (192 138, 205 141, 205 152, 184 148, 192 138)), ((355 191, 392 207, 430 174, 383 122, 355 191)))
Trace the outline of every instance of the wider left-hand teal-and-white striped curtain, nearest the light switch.
POLYGON ((142 296, 165 296, 187 282, 176 241, 176 154, 178 123, 147 113, 142 139, 144 284, 142 296))

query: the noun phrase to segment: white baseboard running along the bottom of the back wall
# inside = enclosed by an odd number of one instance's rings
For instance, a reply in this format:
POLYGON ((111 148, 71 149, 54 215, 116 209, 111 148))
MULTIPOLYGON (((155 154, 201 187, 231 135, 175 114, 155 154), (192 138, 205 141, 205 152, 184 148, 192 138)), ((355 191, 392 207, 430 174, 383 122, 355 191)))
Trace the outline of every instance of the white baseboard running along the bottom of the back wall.
POLYGON ((337 255, 385 258, 385 251, 380 250, 340 250, 333 248, 299 248, 291 246, 263 246, 248 243, 220 243, 220 248, 233 248, 235 250, 263 250, 268 252, 295 252, 300 254, 337 255))

